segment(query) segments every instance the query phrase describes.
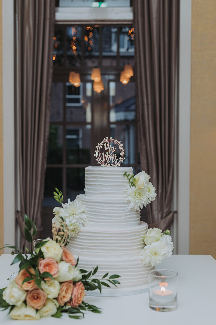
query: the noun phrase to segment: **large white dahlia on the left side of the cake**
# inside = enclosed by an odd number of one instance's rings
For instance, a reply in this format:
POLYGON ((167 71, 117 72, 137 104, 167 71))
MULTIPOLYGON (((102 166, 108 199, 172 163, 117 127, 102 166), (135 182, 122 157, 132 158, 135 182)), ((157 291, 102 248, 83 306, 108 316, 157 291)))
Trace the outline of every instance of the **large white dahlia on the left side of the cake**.
POLYGON ((68 199, 67 203, 62 203, 64 211, 62 212, 62 217, 68 226, 72 224, 78 224, 82 226, 86 220, 86 215, 84 214, 84 206, 82 202, 78 199, 70 201, 68 199))

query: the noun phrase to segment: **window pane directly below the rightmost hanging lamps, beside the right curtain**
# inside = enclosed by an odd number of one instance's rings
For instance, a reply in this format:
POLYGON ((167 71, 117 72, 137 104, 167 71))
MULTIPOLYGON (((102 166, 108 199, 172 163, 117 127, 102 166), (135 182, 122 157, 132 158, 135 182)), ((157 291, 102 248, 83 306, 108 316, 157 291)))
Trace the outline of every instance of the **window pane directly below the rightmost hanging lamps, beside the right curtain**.
POLYGON ((110 82, 110 122, 135 121, 135 83, 110 82))

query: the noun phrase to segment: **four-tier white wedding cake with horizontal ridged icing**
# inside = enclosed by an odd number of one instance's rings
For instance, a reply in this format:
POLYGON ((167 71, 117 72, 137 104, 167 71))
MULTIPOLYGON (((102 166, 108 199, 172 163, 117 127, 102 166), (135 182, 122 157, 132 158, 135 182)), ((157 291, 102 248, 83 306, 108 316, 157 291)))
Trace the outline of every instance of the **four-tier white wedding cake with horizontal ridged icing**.
POLYGON ((67 246, 75 257, 79 256, 79 268, 90 270, 98 265, 98 279, 106 272, 121 276, 121 285, 102 289, 102 295, 146 291, 152 269, 140 260, 148 225, 140 221, 140 212, 131 209, 126 200, 125 171, 133 173, 132 167, 85 168, 85 194, 77 199, 85 206, 87 221, 67 246))

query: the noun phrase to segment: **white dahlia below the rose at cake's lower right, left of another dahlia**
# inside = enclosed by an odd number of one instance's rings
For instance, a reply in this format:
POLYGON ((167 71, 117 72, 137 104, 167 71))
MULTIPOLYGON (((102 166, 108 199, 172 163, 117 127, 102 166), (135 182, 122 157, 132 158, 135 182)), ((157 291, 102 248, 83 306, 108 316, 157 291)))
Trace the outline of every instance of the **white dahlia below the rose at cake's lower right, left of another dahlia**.
POLYGON ((146 245, 139 255, 143 264, 150 264, 152 266, 160 264, 163 259, 163 250, 160 240, 155 241, 150 245, 146 245))

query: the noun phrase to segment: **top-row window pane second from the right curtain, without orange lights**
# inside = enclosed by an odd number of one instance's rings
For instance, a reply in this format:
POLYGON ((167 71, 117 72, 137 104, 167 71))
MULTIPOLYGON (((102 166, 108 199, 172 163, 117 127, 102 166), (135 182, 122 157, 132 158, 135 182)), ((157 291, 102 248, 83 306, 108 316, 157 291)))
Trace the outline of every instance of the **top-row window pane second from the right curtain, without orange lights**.
POLYGON ((115 66, 117 63, 117 27, 102 28, 102 65, 115 66))

